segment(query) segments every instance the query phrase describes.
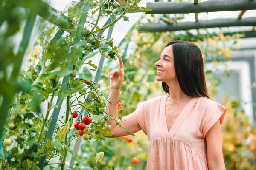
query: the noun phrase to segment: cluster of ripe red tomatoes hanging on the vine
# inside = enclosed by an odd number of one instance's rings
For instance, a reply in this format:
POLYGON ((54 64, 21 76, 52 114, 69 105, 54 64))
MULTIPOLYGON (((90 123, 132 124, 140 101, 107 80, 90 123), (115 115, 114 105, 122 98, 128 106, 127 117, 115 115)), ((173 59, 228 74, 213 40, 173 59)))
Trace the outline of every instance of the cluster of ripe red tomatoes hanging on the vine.
MULTIPOLYGON (((77 118, 77 116, 78 116, 78 114, 77 114, 76 112, 74 112, 74 113, 73 113, 73 118, 77 118)), ((91 122, 92 122, 92 120, 90 119, 90 117, 85 116, 85 117, 83 118, 83 122, 77 121, 77 122, 75 122, 75 124, 74 124, 75 129, 78 130, 78 134, 79 134, 80 136, 82 136, 82 138, 83 138, 84 140, 89 140, 89 139, 90 139, 90 136, 87 135, 87 130, 88 130, 88 128, 85 127, 85 125, 90 125, 91 122)))

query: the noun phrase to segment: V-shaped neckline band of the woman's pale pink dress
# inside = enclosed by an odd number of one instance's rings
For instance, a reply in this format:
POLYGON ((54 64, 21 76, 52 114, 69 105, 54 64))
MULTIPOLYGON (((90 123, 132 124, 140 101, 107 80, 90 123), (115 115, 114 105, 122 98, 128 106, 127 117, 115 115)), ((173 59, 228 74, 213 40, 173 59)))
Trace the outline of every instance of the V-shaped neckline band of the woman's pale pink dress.
POLYGON ((177 131, 180 124, 183 122, 183 120, 186 118, 186 116, 189 114, 195 103, 198 101, 199 97, 192 97, 192 99, 186 104, 186 106, 183 108, 183 110, 180 112, 180 114, 175 119, 175 122, 173 123, 172 127, 168 131, 168 125, 167 125, 167 119, 166 119, 166 102, 170 94, 166 95, 166 99, 164 102, 162 102, 161 105, 161 115, 162 120, 164 121, 163 124, 163 130, 169 134, 171 137, 174 136, 175 132, 177 131))

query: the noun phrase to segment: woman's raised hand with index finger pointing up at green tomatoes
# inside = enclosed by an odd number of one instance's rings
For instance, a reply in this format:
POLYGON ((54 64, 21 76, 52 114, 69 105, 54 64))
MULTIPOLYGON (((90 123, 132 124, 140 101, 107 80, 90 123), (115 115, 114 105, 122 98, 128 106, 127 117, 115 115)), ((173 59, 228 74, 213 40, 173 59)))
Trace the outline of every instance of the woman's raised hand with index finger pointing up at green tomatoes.
POLYGON ((108 73, 108 77, 110 78, 110 89, 120 90, 122 82, 124 81, 124 64, 120 56, 119 70, 114 68, 110 73, 108 73))

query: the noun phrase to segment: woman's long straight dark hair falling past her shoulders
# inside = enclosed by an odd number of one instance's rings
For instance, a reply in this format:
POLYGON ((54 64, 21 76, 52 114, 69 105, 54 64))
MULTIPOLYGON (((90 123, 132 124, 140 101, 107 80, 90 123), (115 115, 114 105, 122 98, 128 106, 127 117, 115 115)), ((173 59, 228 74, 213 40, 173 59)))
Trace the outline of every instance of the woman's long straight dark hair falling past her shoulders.
MULTIPOLYGON (((172 41, 174 67, 181 90, 187 96, 209 98, 201 50, 192 42, 172 41)), ((169 86, 162 82, 163 90, 170 93, 169 86)), ((209 98, 210 99, 210 98, 209 98)))

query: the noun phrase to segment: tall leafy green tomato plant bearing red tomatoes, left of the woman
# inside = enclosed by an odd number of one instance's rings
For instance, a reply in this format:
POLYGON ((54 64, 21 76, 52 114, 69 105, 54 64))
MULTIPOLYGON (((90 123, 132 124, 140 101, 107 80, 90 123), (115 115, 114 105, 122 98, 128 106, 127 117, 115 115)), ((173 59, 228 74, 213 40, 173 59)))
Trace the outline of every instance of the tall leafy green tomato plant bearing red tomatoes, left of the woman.
POLYGON ((63 170, 67 154, 76 156, 70 144, 79 135, 84 133, 81 135, 84 140, 102 140, 102 135, 113 135, 111 131, 102 129, 107 124, 103 117, 111 116, 106 113, 101 85, 93 80, 91 71, 96 71, 98 67, 90 58, 96 53, 104 58, 104 53, 109 51, 109 59, 116 59, 118 50, 111 50, 116 48, 113 39, 105 38, 102 33, 129 10, 140 9, 138 2, 117 6, 109 0, 79 0, 58 13, 43 1, 21 0, 19 3, 10 1, 2 4, 6 14, 1 21, 6 21, 7 29, 0 35, 3 40, 0 68, 0 83, 3 85, 0 91, 3 95, 0 138, 3 145, 0 144, 0 169, 43 169, 48 164, 55 164, 63 170), (96 11, 99 17, 89 22, 87 16, 92 17, 96 11), (49 13, 53 17, 46 17, 49 13), (27 49, 37 14, 43 17, 39 19, 41 23, 45 22, 44 19, 49 22, 42 24, 38 40, 27 49), (110 23, 99 28, 99 19, 109 16, 115 17, 115 20, 111 18, 110 23), (55 17, 61 20, 57 21, 55 17), (14 53, 18 45, 10 40, 15 40, 12 36, 23 31, 21 23, 26 23, 23 39, 17 53, 14 53), (84 27, 85 23, 90 28, 84 27), (67 34, 62 35, 64 31, 67 34), (5 48, 3 44, 9 46, 5 48), (27 65, 25 69, 20 69, 24 57, 27 58, 27 65), (10 67, 12 72, 7 74, 10 67), (61 112, 63 102, 66 102, 64 113, 61 112), (85 116, 87 120, 83 122, 81 118, 85 116), (101 124, 96 124, 95 120, 91 124, 94 116, 101 118, 101 124), (84 123, 91 125, 86 127, 84 123))

